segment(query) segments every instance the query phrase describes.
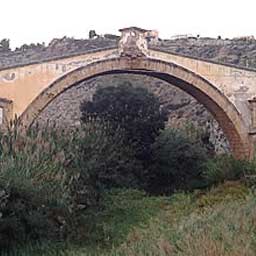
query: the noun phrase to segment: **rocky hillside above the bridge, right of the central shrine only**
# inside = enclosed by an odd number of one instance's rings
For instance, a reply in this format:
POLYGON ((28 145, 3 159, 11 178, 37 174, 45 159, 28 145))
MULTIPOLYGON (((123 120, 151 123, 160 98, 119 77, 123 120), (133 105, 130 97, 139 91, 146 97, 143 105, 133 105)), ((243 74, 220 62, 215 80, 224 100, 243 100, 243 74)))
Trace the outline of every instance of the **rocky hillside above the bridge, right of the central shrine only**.
POLYGON ((156 47, 192 57, 256 68, 254 39, 183 38, 163 40, 156 47))

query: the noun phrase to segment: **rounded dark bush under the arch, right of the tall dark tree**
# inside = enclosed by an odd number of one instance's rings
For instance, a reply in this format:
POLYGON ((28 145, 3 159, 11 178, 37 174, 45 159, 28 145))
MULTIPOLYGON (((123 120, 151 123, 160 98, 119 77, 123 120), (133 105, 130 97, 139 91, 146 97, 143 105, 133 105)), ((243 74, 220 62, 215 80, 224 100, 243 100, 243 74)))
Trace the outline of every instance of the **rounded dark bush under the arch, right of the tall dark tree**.
POLYGON ((173 129, 162 131, 153 144, 149 190, 170 193, 204 185, 201 177, 206 150, 196 141, 173 129))

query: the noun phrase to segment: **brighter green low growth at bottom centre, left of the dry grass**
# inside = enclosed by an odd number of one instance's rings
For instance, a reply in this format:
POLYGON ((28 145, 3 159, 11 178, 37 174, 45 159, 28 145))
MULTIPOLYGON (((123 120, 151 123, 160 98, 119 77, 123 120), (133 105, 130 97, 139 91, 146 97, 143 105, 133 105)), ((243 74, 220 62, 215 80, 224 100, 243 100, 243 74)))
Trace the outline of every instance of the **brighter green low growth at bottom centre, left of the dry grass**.
POLYGON ((157 214, 163 200, 148 197, 144 191, 135 189, 112 189, 105 191, 102 210, 94 210, 81 217, 80 227, 89 232, 81 240, 87 245, 100 248, 121 244, 136 226, 145 225, 157 214))

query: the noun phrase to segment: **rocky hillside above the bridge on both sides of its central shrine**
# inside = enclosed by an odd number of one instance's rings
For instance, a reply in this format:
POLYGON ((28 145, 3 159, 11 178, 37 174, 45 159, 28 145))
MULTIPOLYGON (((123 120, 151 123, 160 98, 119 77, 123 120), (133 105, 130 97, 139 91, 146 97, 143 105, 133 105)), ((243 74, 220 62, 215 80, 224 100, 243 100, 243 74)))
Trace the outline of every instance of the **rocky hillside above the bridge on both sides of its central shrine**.
MULTIPOLYGON (((6 44, 4 39, 0 42, 0 69, 80 52, 110 48, 117 45, 117 40, 118 37, 115 35, 106 35, 94 39, 63 37, 53 39, 47 46, 44 43, 25 44, 12 51, 9 49, 8 43, 7 46, 2 47, 1 42, 6 44)), ((256 68, 256 40, 253 38, 188 37, 159 40, 157 44, 153 44, 151 47, 192 57, 256 68)))

